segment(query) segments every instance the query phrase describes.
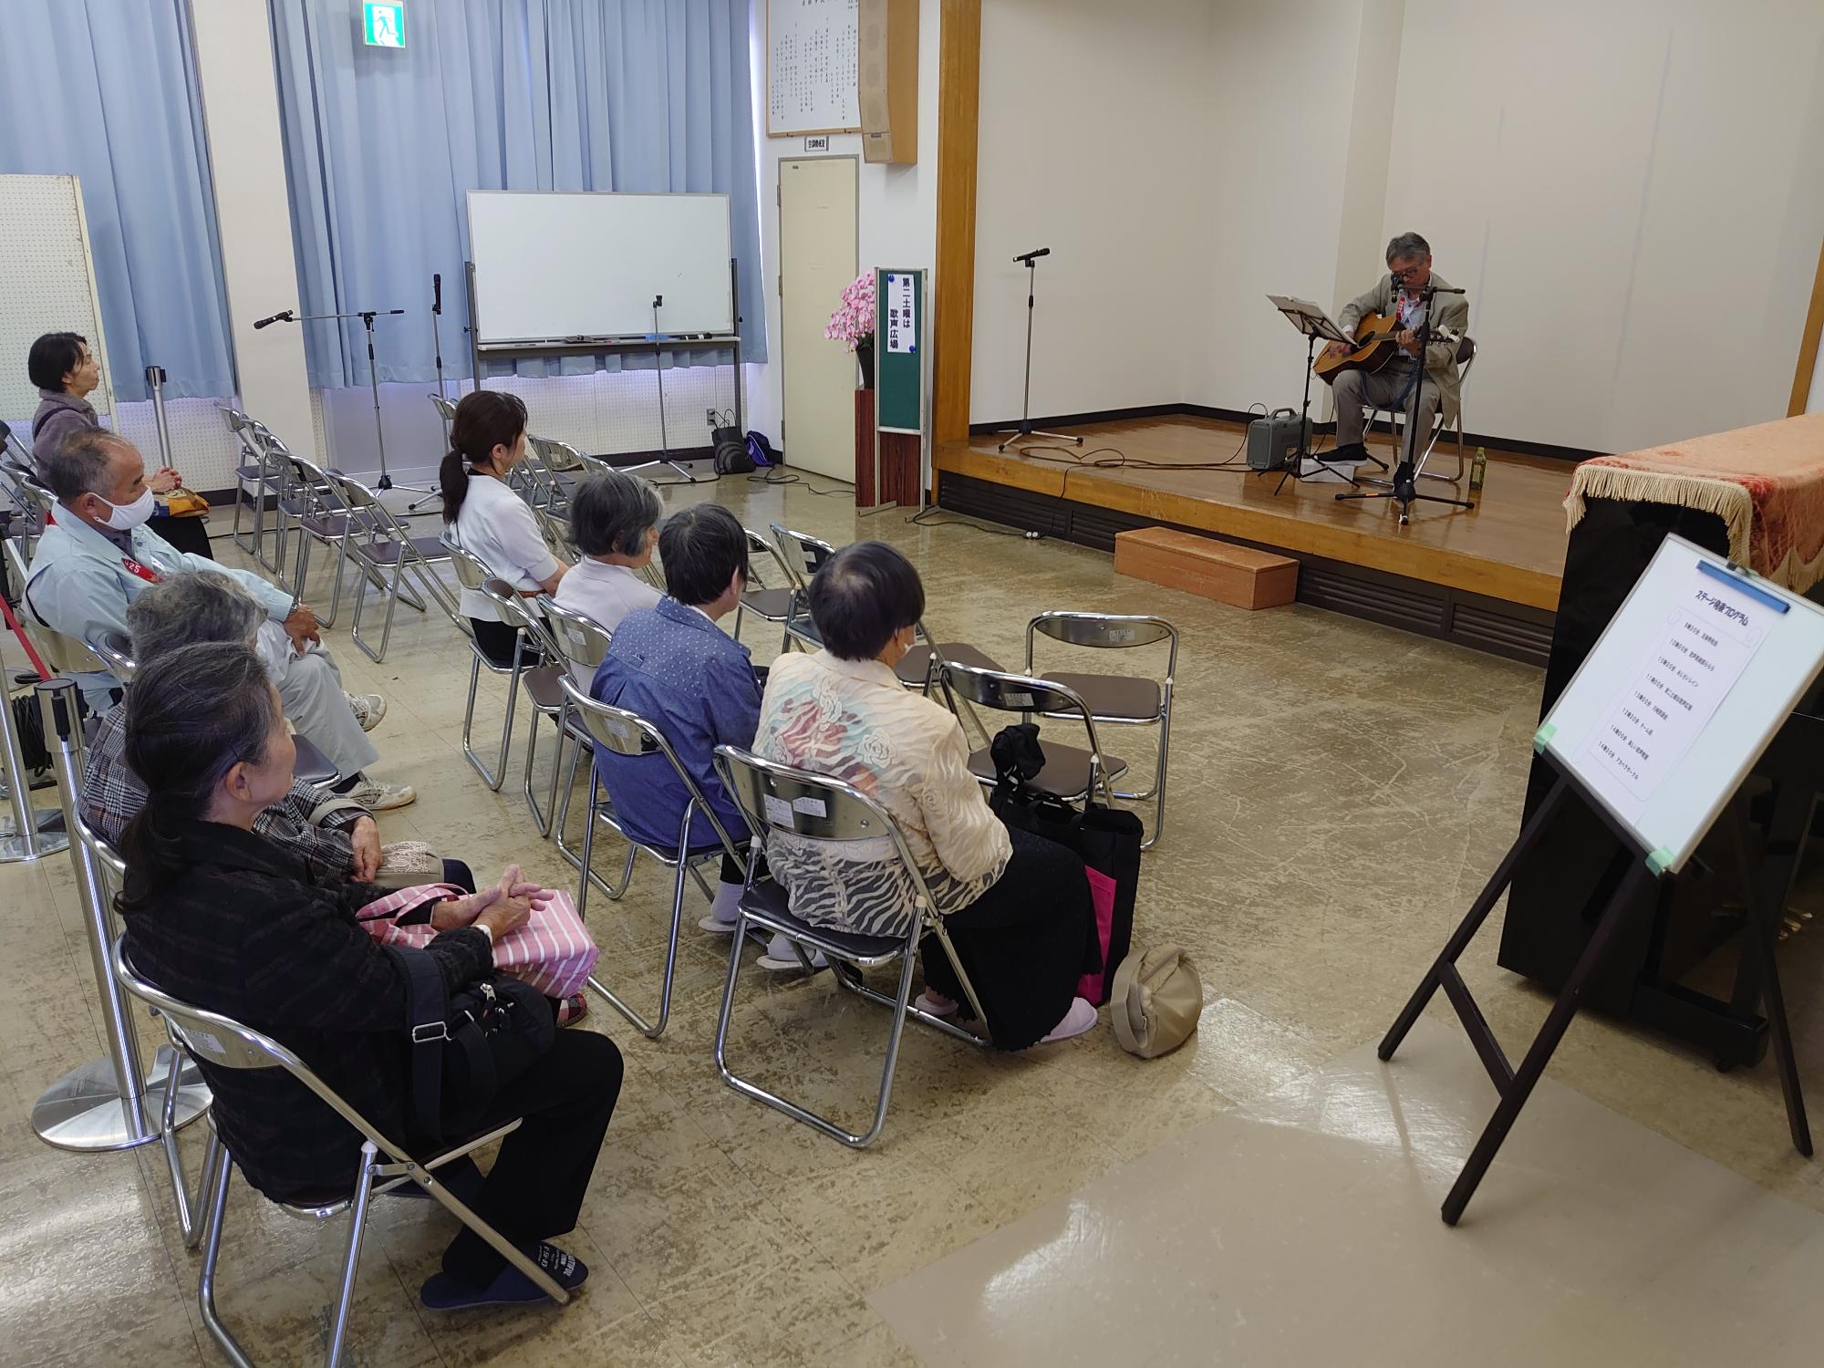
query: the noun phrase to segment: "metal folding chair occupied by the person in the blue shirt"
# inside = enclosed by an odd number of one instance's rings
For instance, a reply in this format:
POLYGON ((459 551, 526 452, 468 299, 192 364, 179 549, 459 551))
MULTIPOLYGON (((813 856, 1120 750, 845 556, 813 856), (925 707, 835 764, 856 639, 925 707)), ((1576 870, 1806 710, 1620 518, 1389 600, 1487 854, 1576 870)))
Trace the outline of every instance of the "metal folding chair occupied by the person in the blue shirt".
MULTIPOLYGON (((595 828, 596 824, 611 828, 618 834, 631 850, 627 852, 627 874, 633 872, 633 857, 638 852, 646 852, 660 865, 677 870, 677 879, 671 885, 671 934, 666 941, 666 978, 664 987, 658 990, 658 1020, 648 1023, 638 1012, 635 1012, 627 1003, 617 998, 607 987, 596 979, 589 979, 589 987, 600 992, 607 1001, 626 1016, 635 1027, 638 1027, 649 1040, 658 1040, 664 1034, 666 1020, 671 1016, 671 979, 677 972, 679 961, 679 925, 684 917, 684 874, 697 881, 702 888, 702 896, 711 903, 715 894, 710 885, 704 883, 699 865, 704 865, 719 855, 728 855, 730 859, 741 859, 741 852, 730 839, 728 832, 722 830, 722 823, 717 821, 715 810, 704 799, 702 790, 697 788, 697 781, 689 777, 689 772, 682 766, 677 751, 671 750, 671 742, 666 741, 664 731, 648 722, 638 713, 629 713, 626 708, 611 708, 606 702, 596 702, 587 693, 576 688, 576 682, 564 673, 562 689, 571 704, 571 713, 587 730, 589 739, 595 741, 604 750, 615 755, 664 755, 671 772, 684 784, 684 792, 689 793, 689 801, 684 804, 684 821, 679 824, 679 843, 675 846, 651 846, 644 841, 635 841, 627 835, 626 828, 615 817, 611 804, 596 804, 596 790, 602 786, 602 777, 596 773, 595 764, 589 766, 589 821, 582 837, 582 868, 584 876, 576 881, 576 908, 584 908, 589 897, 589 861, 595 852, 595 828), (711 845, 693 846, 689 843, 691 819, 702 812, 710 819, 710 826, 715 830, 717 839, 711 845)), ((626 885, 624 885, 626 886, 626 885)), ((735 954, 741 948, 741 936, 735 938, 735 954)))

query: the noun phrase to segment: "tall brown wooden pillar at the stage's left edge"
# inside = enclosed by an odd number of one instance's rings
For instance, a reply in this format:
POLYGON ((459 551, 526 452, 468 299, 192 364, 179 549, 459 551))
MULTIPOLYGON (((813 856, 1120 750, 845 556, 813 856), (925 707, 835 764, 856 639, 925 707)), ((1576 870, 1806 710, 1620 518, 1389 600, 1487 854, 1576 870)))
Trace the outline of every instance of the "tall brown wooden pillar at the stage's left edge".
POLYGON ((938 38, 938 261, 932 281, 934 441, 969 440, 979 106, 981 0, 943 0, 938 38))

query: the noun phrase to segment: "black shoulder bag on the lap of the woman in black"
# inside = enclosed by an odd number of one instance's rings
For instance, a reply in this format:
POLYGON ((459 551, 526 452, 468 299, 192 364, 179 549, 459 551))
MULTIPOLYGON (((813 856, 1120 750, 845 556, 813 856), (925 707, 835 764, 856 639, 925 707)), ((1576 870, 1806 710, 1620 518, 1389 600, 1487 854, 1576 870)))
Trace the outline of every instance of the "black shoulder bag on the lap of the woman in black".
POLYGON ((423 1144, 467 1140, 507 1083, 551 1049, 556 1021, 538 989, 509 974, 491 974, 445 992, 443 970, 429 950, 387 947, 399 956, 410 985, 414 1138, 423 1144))

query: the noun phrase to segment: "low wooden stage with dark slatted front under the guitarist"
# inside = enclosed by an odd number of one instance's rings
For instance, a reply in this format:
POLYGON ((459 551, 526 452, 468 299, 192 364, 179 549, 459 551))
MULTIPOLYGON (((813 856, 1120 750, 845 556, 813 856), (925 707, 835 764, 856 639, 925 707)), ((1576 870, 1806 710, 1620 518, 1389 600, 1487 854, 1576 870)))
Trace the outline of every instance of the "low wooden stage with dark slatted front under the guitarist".
MULTIPOLYGON (((939 443, 938 503, 1104 551, 1116 533, 1155 525, 1280 551, 1301 562, 1302 604, 1545 664, 1565 562, 1567 461, 1490 451, 1481 507, 1414 503, 1401 527, 1392 500, 1339 503, 1341 483, 1286 480, 1275 496, 1280 472, 1248 471, 1238 423, 1173 416, 1062 430, 1083 445, 1032 440, 1034 454, 1016 456, 998 454, 996 436, 939 443), (1153 465, 1114 469, 1116 452, 1153 465), (1228 460, 1238 463, 1175 469, 1228 460)), ((1390 454, 1384 438, 1368 445, 1390 454)), ((1456 469, 1454 443, 1439 443, 1432 469, 1456 469)), ((1459 485, 1421 487, 1465 498, 1468 472, 1459 485)))

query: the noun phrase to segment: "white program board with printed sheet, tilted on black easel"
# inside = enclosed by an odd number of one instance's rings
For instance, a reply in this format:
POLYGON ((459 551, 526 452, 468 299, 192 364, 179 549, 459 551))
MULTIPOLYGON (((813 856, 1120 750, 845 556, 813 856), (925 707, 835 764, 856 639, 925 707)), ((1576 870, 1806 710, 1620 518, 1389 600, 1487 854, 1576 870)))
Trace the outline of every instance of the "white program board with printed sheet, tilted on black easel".
POLYGON ((1667 536, 1534 744, 1676 872, 1820 668, 1824 609, 1667 536))

